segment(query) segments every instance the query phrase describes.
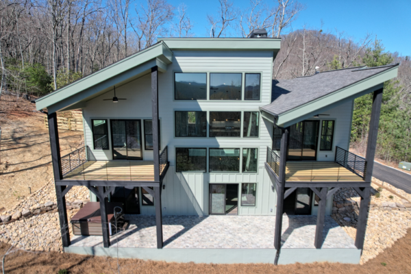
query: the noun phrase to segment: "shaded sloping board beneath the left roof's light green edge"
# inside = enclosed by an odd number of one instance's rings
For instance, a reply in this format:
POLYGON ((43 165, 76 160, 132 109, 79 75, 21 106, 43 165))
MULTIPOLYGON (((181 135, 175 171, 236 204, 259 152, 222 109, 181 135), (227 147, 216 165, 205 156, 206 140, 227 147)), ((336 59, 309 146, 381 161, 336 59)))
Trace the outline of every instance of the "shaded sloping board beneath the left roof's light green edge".
MULTIPOLYGON (((163 66, 163 68, 160 68, 159 70, 163 70, 165 66, 164 63, 158 62, 157 59, 150 60, 149 62, 145 62, 144 64, 140 64, 139 66, 134 67, 133 69, 129 69, 124 73, 116 75, 116 77, 111 77, 110 79, 107 79, 103 82, 99 82, 98 84, 95 84, 94 86, 91 86, 90 88, 83 90, 82 92, 76 93, 71 97, 63 99, 62 101, 48 105, 47 110, 49 110, 49 113, 58 112, 62 109, 70 107, 71 105, 74 105, 75 103, 79 103, 79 101, 89 101, 92 98, 98 97, 105 92, 112 90, 113 86, 118 86, 119 84, 122 84, 124 82, 130 82, 133 79, 137 79, 151 73, 151 68, 153 66, 158 66, 158 64, 163 66)), ((36 106, 38 108, 37 103, 36 106)))

